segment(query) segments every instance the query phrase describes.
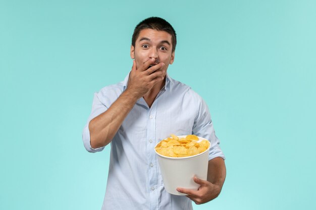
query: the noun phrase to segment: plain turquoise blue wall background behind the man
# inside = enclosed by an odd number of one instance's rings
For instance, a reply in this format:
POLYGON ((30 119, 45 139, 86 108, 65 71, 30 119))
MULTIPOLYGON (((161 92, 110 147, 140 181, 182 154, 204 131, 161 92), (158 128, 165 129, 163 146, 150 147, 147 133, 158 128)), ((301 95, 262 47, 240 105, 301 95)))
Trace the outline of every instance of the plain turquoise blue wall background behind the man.
POLYGON ((93 93, 129 73, 135 25, 178 34, 169 74, 198 92, 227 157, 194 209, 316 208, 315 1, 0 0, 0 209, 100 209, 110 147, 85 151, 93 93))

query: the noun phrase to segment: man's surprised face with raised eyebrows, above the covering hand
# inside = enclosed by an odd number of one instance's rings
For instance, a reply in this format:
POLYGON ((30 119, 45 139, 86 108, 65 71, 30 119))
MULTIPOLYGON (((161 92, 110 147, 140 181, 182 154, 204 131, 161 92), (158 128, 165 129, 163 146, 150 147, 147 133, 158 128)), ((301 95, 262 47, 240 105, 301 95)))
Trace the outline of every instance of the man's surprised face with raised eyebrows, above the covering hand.
POLYGON ((131 46, 130 53, 131 58, 136 61, 137 68, 150 58, 155 58, 153 65, 164 62, 165 65, 159 69, 164 72, 164 76, 169 64, 172 64, 175 58, 175 53, 172 52, 171 35, 165 31, 153 29, 140 31, 135 47, 131 46))

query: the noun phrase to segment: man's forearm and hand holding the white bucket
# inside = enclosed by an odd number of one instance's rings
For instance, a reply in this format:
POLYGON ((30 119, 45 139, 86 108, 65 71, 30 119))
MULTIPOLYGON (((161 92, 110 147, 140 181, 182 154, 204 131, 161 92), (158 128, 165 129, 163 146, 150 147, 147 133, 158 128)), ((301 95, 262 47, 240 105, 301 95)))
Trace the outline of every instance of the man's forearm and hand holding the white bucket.
POLYGON ((207 181, 194 177, 194 182, 200 184, 198 190, 178 187, 179 192, 188 194, 187 197, 196 204, 206 203, 219 196, 226 178, 226 166, 223 158, 217 157, 208 161, 207 181))

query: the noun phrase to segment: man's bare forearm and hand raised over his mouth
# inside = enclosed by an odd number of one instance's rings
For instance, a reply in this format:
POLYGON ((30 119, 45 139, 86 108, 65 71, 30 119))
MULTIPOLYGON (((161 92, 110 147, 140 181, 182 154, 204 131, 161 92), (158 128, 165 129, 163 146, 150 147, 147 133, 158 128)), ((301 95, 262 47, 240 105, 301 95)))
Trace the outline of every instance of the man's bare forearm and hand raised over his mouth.
POLYGON ((126 91, 120 95, 107 111, 89 122, 90 144, 92 148, 95 149, 108 145, 136 101, 144 96, 157 82, 163 80, 161 77, 162 72, 156 70, 161 68, 164 63, 159 63, 148 68, 154 61, 155 59, 149 59, 136 69, 136 62, 134 60, 126 91))

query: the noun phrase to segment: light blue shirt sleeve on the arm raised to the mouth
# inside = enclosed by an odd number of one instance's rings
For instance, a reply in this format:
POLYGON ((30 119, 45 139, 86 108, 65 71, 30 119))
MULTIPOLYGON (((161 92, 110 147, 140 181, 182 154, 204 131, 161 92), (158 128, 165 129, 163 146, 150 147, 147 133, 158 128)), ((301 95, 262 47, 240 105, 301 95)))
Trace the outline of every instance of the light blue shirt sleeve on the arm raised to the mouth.
POLYGON ((103 113, 103 112, 105 112, 107 110, 108 110, 108 107, 100 102, 97 94, 95 93, 94 97, 93 97, 93 102, 92 102, 91 114, 90 114, 90 116, 88 118, 88 121, 87 121, 86 125, 83 128, 83 131, 82 131, 82 141, 83 141, 84 148, 90 153, 100 152, 100 151, 102 151, 104 149, 104 147, 100 147, 100 148, 96 148, 96 149, 91 147, 89 122, 94 117, 100 115, 101 113, 103 113))

